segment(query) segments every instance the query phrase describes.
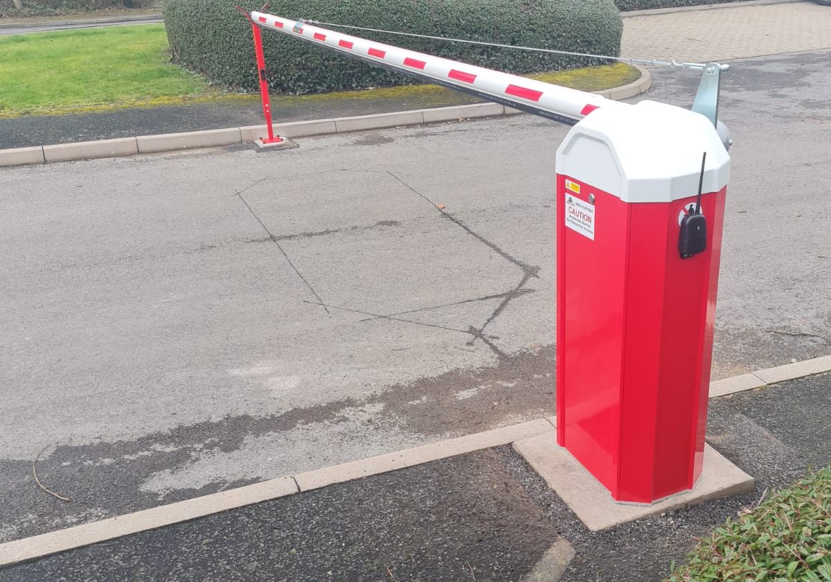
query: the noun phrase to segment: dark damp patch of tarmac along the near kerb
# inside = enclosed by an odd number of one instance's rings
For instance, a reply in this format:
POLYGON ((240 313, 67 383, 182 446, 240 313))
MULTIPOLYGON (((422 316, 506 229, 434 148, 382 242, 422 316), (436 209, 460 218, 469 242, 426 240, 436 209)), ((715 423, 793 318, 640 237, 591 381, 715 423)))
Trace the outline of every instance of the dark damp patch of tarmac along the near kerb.
MULTIPOLYGON (((60 501, 37 486, 32 461, 0 461, 0 542, 37 535, 113 515, 182 501, 242 486, 258 479, 215 480, 199 488, 152 491, 161 471, 176 470, 204 456, 238 451, 253 438, 297 427, 352 422, 348 411, 380 411, 366 431, 397 427, 427 437, 480 432, 529 415, 553 414, 554 348, 539 346, 500 358, 494 366, 447 372, 388 387, 363 401, 343 399, 266 417, 242 415, 176 427, 133 441, 57 446, 37 461, 37 476, 60 501)), ((434 439, 430 439, 434 440, 434 439)))

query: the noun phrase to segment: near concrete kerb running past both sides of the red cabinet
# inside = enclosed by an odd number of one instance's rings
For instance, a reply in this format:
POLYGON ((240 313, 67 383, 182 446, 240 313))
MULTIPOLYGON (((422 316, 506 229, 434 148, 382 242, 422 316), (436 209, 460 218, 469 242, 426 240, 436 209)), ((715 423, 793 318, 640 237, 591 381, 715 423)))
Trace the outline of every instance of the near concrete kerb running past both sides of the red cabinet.
MULTIPOLYGON (((756 373, 763 377, 769 377, 775 382, 784 382, 823 372, 831 372, 831 355, 711 382, 710 397, 720 397, 765 386, 766 382, 756 376, 756 373)), ((277 499, 303 491, 312 491, 335 483, 396 471, 408 466, 438 461, 448 456, 479 451, 492 446, 528 441, 537 437, 553 437, 554 434, 553 417, 538 418, 534 421, 522 422, 509 427, 433 442, 404 451, 372 456, 360 461, 324 467, 294 476, 278 477, 270 481, 221 491, 209 496, 196 497, 188 501, 179 501, 167 506, 136 511, 135 513, 119 515, 89 524, 76 525, 65 530, 52 531, 47 534, 0 544, 0 567, 71 550, 83 545, 112 540, 139 531, 155 529, 163 525, 172 525, 204 515, 212 515, 236 507, 277 499)), ((712 451, 711 455, 713 452, 715 451, 712 451)), ((717 454, 715 453, 715 455, 717 454)), ((746 487, 747 483, 746 480, 742 481, 740 486, 746 487)), ((687 502, 689 500, 685 499, 683 501, 687 502)))

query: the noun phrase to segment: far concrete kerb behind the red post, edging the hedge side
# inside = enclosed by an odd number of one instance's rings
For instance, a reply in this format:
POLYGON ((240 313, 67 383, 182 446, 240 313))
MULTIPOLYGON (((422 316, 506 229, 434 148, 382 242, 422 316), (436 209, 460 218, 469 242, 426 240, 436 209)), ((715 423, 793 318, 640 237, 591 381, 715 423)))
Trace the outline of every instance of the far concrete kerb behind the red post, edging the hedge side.
MULTIPOLYGON (((627 85, 595 91, 598 95, 607 99, 628 99, 648 91, 652 87, 652 77, 649 72, 637 67, 641 76, 627 85)), ((438 107, 435 109, 417 109, 413 111, 395 111, 392 113, 379 113, 369 116, 339 117, 335 119, 322 119, 312 121, 289 121, 287 123, 273 124, 275 135, 288 138, 325 136, 333 133, 347 133, 352 131, 376 130, 386 127, 417 126, 425 123, 439 123, 445 121, 460 121, 464 119, 475 119, 481 117, 515 115, 522 113, 504 107, 497 103, 476 103, 474 105, 461 105, 450 107, 438 107)), ((229 127, 219 130, 208 131, 184 131, 181 133, 170 133, 156 136, 136 136, 120 138, 124 140, 135 140, 137 150, 132 154, 161 153, 172 150, 189 150, 202 147, 216 147, 221 145, 234 145, 238 143, 252 143, 266 136, 267 128, 261 126, 229 127)), ((113 142, 115 140, 103 140, 113 142)), ((13 150, 0 150, 0 167, 10 165, 44 164, 54 161, 85 160, 93 157, 106 157, 98 155, 106 150, 102 141, 81 141, 69 144, 44 145, 34 148, 16 148, 13 150), (25 150, 25 151, 24 151, 25 150), (37 150, 48 150, 49 155, 37 155, 37 150), (87 155, 88 152, 96 155, 87 155)), ((126 148, 126 146, 123 146, 126 148)), ((43 152, 41 152, 43 153, 43 152)), ((118 150, 112 155, 130 155, 125 150, 118 150)))

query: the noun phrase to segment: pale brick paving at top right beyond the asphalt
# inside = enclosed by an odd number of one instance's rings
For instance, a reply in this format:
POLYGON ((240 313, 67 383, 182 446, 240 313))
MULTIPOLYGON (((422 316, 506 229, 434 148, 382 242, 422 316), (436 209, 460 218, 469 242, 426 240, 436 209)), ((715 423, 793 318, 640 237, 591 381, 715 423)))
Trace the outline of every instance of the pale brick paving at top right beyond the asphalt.
POLYGON ((624 57, 729 61, 831 48, 831 7, 786 2, 623 20, 624 57))

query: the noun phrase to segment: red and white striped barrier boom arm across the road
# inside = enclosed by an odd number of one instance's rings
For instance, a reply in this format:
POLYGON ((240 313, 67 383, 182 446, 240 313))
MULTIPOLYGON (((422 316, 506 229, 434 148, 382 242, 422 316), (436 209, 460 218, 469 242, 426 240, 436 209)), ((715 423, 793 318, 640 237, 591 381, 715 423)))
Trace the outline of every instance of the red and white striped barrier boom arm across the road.
POLYGON ((261 27, 283 32, 290 37, 332 49, 377 67, 401 72, 568 125, 577 123, 598 107, 628 106, 626 103, 612 101, 594 93, 534 81, 524 76, 493 71, 464 62, 450 61, 423 52, 408 51, 273 14, 251 12, 251 19, 261 27))

